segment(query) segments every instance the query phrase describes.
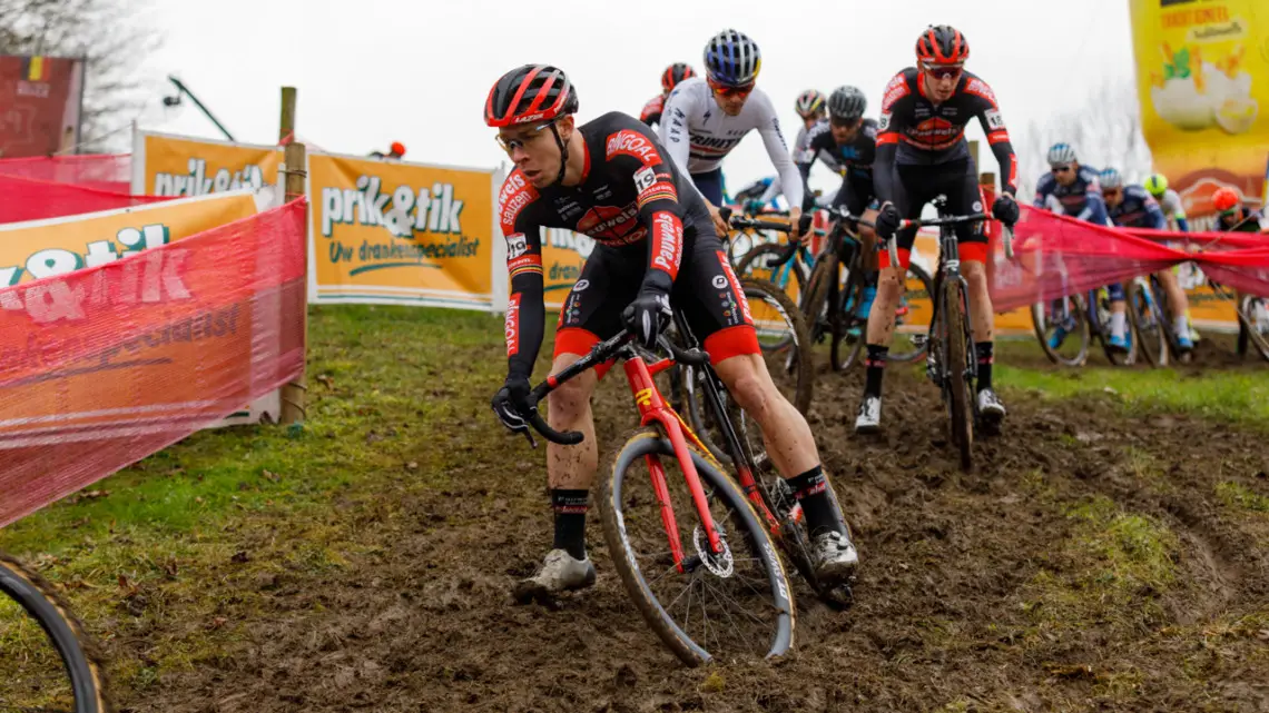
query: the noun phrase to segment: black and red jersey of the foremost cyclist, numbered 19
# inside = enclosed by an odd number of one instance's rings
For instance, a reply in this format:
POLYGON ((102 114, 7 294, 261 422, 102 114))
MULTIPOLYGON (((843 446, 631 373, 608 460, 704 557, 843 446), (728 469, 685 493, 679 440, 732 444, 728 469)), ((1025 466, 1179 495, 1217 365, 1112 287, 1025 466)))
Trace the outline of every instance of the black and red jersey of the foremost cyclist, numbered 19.
MULTIPOLYGON (((664 146, 647 124, 610 112, 577 131, 585 142, 580 184, 556 184, 538 192, 516 169, 499 192, 511 277, 506 308, 511 376, 528 377, 542 345, 546 310, 538 228, 566 228, 595 239, 588 265, 603 259, 637 266, 642 273, 637 288, 662 294, 670 294, 680 261, 690 254, 698 233, 717 242, 700 194, 665 157, 664 146)), ((604 288, 596 284, 593 293, 604 288)), ((624 306, 619 304, 617 312, 624 306)))

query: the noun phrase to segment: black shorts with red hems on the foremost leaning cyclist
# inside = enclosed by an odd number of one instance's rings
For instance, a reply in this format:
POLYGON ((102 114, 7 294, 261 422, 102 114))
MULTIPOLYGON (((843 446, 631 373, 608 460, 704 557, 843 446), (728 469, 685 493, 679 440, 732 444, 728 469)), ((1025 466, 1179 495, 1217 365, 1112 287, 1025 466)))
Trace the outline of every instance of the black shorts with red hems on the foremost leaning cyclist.
MULTIPOLYGON (((759 354, 758 332, 736 273, 713 232, 684 231, 687 247, 670 292, 670 306, 681 310, 688 326, 714 364, 740 354, 759 354)), ((560 311, 555 355, 585 355, 614 336, 622 312, 634 301, 647 269, 643 245, 595 245, 581 277, 560 311)), ((598 369, 600 378, 608 364, 598 369)))

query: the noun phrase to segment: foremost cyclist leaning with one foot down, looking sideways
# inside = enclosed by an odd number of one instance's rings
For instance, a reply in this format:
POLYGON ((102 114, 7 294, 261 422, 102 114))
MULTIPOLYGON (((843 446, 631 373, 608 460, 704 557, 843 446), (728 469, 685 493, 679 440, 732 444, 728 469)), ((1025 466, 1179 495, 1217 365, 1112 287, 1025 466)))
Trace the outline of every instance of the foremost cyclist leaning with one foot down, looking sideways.
MULTIPOLYGON (((704 200, 646 124, 612 112, 579 127, 576 110, 576 90, 562 71, 546 65, 511 70, 485 105, 485 123, 499 129, 515 164, 499 193, 511 294, 508 377, 494 396, 494 412, 509 429, 525 428, 529 376, 546 324, 539 228, 589 235, 596 245, 560 313, 552 372, 623 326, 655 346, 673 301, 727 389, 761 426, 768 453, 806 513, 817 568, 830 581, 846 577, 858 554, 811 429, 766 372, 749 304, 704 200)), ((590 396, 603 370, 586 372, 548 396, 551 426, 581 431, 585 440, 547 445, 555 544, 542 570, 516 587, 522 601, 595 581, 585 521, 599 462, 590 396)))

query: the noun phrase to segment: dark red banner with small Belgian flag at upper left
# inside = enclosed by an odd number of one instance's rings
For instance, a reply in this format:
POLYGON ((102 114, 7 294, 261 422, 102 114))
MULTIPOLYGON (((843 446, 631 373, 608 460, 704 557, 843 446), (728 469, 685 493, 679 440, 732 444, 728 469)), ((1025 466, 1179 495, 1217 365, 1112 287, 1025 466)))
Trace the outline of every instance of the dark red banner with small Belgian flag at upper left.
POLYGON ((84 60, 0 56, 0 157, 72 150, 82 99, 84 60))

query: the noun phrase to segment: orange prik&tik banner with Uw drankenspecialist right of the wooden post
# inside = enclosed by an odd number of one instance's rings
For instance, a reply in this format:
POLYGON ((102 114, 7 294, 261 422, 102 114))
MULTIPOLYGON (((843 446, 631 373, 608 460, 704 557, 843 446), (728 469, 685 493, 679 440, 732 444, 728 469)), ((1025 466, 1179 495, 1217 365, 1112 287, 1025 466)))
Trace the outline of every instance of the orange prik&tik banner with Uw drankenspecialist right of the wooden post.
POLYGON ((492 180, 492 170, 310 155, 315 302, 490 310, 492 180))

